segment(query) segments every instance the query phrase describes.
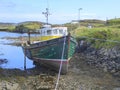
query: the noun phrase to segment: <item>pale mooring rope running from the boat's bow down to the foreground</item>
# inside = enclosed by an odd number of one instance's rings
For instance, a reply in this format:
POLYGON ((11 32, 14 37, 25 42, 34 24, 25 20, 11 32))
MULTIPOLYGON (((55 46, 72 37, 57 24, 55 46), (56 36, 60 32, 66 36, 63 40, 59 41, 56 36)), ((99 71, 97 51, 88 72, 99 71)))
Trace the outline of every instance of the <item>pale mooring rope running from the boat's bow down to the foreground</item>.
POLYGON ((55 90, 57 90, 59 80, 60 80, 60 74, 61 74, 61 69, 62 69, 62 64, 63 64, 63 57, 64 57, 64 50, 65 50, 65 43, 66 42, 66 36, 64 37, 64 43, 63 43, 63 50, 62 50, 62 56, 61 56, 61 62, 60 62, 60 68, 59 68, 59 73, 58 73, 58 78, 55 86, 55 90))

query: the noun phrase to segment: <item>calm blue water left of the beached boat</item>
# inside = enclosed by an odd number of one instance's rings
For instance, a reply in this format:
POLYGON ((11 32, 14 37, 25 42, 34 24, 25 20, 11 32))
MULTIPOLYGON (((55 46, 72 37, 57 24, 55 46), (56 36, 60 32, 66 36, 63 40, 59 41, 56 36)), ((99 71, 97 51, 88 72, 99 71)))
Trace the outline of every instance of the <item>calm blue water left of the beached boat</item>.
MULTIPOLYGON (((27 34, 17 34, 10 32, 0 32, 0 59, 7 59, 8 62, 0 65, 2 68, 19 68, 24 69, 24 54, 21 47, 5 45, 13 41, 2 39, 3 37, 20 37, 27 34)), ((26 67, 34 67, 33 62, 26 58, 26 67)))

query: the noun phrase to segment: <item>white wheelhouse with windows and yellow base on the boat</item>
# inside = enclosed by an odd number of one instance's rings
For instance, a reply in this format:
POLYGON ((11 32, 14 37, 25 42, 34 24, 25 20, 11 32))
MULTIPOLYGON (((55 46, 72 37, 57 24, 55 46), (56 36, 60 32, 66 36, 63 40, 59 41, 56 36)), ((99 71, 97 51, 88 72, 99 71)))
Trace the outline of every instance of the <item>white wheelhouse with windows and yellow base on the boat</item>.
POLYGON ((40 41, 46 41, 68 35, 67 27, 51 27, 50 25, 44 25, 41 29, 39 29, 39 32, 40 41))

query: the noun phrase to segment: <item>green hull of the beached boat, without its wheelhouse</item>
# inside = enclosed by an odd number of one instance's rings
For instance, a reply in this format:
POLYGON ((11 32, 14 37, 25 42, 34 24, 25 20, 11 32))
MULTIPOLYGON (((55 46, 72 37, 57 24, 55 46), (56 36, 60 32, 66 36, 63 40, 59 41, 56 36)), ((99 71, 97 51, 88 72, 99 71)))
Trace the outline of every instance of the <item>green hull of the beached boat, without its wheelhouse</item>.
POLYGON ((36 63, 59 71, 62 62, 61 73, 67 73, 69 60, 74 55, 75 48, 76 40, 70 35, 23 46, 24 54, 36 63))

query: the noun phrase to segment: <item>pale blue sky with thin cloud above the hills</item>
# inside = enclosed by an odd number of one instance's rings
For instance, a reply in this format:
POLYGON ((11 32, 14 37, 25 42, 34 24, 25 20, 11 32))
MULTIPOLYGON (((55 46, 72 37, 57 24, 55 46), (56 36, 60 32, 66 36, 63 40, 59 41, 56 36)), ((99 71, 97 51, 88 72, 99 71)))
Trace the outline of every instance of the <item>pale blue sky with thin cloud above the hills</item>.
POLYGON ((0 22, 46 22, 49 7, 49 23, 63 24, 72 20, 120 17, 120 0, 0 0, 0 22), (79 13, 79 8, 82 8, 79 13), (79 15, 80 14, 80 15, 79 15))

